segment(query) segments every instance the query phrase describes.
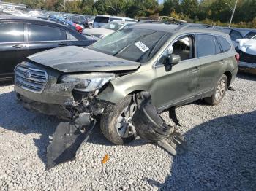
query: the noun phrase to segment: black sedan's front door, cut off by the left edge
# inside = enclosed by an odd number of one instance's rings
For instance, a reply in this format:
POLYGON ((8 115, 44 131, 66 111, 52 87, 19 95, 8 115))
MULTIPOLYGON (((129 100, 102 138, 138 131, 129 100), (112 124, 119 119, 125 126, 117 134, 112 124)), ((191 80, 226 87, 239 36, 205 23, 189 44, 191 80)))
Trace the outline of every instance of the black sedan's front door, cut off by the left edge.
POLYGON ((23 23, 0 23, 0 80, 14 76, 15 66, 26 58, 29 44, 23 23))

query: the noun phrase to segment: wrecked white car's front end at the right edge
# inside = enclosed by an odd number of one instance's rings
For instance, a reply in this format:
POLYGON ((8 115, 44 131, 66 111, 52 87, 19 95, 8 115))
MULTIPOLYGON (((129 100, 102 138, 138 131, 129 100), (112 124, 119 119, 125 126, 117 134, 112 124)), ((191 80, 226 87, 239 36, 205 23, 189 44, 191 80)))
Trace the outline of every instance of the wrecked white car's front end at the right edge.
POLYGON ((237 52, 240 55, 239 70, 256 74, 256 36, 252 39, 238 39, 237 52))

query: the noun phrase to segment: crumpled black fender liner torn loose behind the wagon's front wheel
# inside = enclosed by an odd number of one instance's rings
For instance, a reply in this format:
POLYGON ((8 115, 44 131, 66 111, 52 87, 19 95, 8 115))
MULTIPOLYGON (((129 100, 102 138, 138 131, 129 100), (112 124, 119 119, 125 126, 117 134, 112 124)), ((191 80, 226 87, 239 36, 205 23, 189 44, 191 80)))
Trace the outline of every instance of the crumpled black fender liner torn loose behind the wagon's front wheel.
POLYGON ((141 139, 157 143, 171 155, 180 155, 187 149, 184 139, 173 126, 165 120, 154 108, 149 93, 142 93, 137 99, 138 109, 132 117, 136 132, 141 139))

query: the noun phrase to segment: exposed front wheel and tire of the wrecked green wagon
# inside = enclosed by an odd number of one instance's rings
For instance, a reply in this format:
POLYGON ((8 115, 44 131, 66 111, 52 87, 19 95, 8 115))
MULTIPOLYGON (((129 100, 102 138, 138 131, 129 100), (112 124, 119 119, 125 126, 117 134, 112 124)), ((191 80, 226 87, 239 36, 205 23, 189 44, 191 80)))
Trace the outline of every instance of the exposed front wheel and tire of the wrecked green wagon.
POLYGON ((127 144, 136 137, 132 116, 135 113, 132 95, 127 95, 119 104, 108 106, 102 114, 100 128, 103 135, 113 144, 127 144))

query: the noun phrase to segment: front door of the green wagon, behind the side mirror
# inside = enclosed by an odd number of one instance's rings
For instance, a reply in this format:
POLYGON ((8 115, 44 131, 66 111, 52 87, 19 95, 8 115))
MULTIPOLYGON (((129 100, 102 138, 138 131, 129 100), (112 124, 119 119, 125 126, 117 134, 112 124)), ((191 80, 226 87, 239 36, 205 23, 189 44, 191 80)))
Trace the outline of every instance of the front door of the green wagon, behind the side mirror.
MULTIPOLYGON (((195 96, 198 86, 200 62, 195 58, 194 35, 181 36, 168 49, 181 56, 181 62, 166 71, 163 59, 167 50, 159 58, 155 67, 155 78, 151 86, 151 98, 157 109, 163 109, 195 96)), ((170 52, 170 51, 169 51, 170 52)))

